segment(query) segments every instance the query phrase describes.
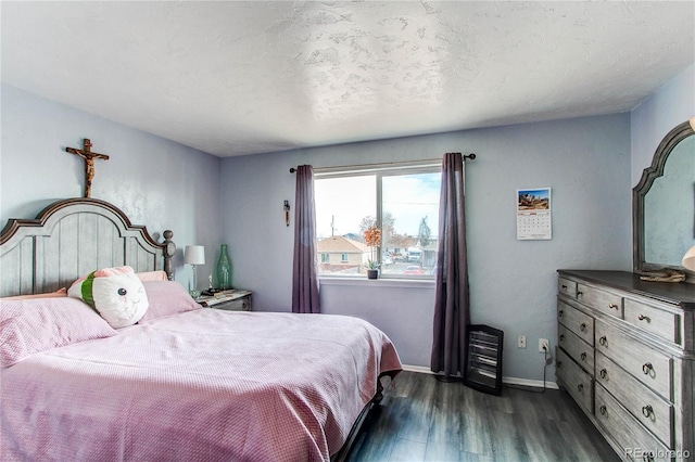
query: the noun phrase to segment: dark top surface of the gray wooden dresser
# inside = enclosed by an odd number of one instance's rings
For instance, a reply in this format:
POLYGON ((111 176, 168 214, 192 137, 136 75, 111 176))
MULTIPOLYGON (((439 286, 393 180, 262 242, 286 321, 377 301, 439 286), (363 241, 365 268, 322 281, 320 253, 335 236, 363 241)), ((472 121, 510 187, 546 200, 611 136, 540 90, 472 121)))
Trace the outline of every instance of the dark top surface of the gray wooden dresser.
POLYGON ((628 271, 560 269, 558 272, 560 275, 574 277, 683 308, 695 309, 695 284, 642 281, 637 274, 628 271))

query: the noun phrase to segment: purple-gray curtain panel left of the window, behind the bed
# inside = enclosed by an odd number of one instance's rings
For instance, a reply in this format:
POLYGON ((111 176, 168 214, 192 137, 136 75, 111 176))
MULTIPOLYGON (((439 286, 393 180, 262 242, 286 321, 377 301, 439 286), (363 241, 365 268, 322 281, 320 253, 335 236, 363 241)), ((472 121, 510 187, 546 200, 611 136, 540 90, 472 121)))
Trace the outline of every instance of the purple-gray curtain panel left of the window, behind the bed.
POLYGON ((316 268, 316 206, 314 169, 296 168, 294 198, 294 264, 292 269, 292 312, 320 312, 316 268))

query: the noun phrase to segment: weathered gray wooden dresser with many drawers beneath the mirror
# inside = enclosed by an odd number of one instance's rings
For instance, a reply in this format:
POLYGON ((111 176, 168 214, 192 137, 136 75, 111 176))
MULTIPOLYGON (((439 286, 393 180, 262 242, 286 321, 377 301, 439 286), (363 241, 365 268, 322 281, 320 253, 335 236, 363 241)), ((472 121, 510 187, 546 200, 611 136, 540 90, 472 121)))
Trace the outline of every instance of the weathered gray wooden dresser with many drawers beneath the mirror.
POLYGON ((624 460, 695 458, 695 285, 558 271, 557 381, 624 460))

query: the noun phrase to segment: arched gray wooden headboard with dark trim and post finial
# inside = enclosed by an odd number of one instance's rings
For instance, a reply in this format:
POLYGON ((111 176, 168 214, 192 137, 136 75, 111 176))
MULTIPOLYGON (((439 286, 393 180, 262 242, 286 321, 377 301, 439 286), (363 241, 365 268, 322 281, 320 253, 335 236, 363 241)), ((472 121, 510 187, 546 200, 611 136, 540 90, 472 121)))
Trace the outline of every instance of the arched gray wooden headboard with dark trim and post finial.
POLYGON ((40 294, 70 286, 90 271, 131 266, 164 270, 173 279, 174 233, 157 243, 116 206, 94 198, 68 198, 33 220, 11 219, 0 235, 0 296, 40 294))

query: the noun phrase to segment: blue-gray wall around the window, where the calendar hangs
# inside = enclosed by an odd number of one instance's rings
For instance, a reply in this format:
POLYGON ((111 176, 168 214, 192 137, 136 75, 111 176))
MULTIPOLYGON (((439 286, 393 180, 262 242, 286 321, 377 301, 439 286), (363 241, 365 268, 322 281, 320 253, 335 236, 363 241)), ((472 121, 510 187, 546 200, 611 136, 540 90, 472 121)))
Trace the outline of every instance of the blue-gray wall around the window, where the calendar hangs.
MULTIPOLYGON (((466 204, 471 319, 505 331, 505 371, 542 380, 538 338, 555 344, 558 268, 631 269, 630 115, 618 114, 296 150, 222 162, 223 239, 235 284, 256 291, 254 309, 290 310, 294 208, 288 169, 441 157, 475 152, 467 164, 466 204), (553 189, 553 240, 516 240, 516 189, 553 189), (293 222, 293 220, 292 220, 293 222), (526 335, 527 349, 517 336, 526 335)), ((325 312, 374 322, 402 360, 429 365, 431 284, 386 280, 323 281, 325 312)), ((554 381, 554 371, 547 377, 554 381)))

